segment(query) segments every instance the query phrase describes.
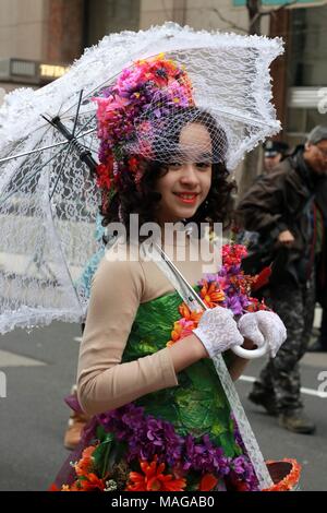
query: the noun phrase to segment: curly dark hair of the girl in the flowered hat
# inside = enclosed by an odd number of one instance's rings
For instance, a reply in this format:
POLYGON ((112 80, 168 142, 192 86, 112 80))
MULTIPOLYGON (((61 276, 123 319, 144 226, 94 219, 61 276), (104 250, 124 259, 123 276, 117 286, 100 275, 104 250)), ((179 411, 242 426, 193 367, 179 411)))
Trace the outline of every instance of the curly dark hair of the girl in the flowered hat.
MULTIPOLYGON (((183 123, 177 123, 178 128, 169 134, 172 143, 178 145, 181 130, 189 122, 203 124, 208 130, 214 153, 219 152, 219 158, 218 155, 214 154, 211 186, 206 200, 199 205, 193 217, 185 219, 185 224, 196 224, 198 232, 201 232, 202 223, 208 223, 210 227, 214 223, 222 223, 223 227, 227 228, 232 222, 232 193, 237 187, 234 181, 229 180, 229 171, 225 163, 218 162, 221 159, 221 155, 225 156, 227 152, 226 133, 217 126, 211 115, 197 107, 186 107, 183 108, 183 123)), ((158 140, 159 138, 160 135, 158 135, 158 140)), ((156 151, 154 153, 156 154, 156 151)), ((125 157, 125 166, 128 166, 129 157, 125 157)), ((168 172, 168 165, 162 164, 162 158, 160 160, 142 160, 143 174, 137 187, 132 172, 122 172, 120 175, 119 190, 110 200, 108 195, 102 198, 100 208, 104 216, 102 226, 114 222, 123 223, 129 237, 130 214, 138 214, 140 226, 156 220, 156 206, 161 199, 161 194, 155 191, 155 187, 157 180, 168 172)), ((169 159, 166 162, 169 162, 169 159)))

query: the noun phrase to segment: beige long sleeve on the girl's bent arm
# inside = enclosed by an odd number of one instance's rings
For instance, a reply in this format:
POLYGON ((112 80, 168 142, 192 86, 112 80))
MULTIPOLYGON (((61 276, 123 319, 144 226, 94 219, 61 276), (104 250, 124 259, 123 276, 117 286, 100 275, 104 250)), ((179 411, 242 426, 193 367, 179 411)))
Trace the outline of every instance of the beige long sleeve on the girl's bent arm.
POLYGON ((89 415, 178 384, 168 348, 121 363, 144 285, 140 262, 104 259, 94 276, 77 371, 78 399, 89 415))

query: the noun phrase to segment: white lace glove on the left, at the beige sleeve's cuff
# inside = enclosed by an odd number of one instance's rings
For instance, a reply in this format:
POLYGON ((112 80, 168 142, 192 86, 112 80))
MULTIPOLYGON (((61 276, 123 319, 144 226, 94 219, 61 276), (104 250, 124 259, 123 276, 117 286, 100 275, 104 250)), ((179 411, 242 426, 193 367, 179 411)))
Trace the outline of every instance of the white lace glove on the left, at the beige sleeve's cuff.
POLYGON ((193 333, 201 339, 210 358, 244 342, 232 312, 222 307, 206 310, 193 333))

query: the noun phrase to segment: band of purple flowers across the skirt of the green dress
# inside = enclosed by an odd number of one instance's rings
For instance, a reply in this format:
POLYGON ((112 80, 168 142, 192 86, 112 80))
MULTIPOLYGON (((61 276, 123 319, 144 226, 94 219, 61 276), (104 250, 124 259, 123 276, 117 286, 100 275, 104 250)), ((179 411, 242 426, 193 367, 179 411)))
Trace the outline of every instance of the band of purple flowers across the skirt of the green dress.
MULTIPOLYGON (((118 440, 128 443, 128 462, 135 460, 164 462, 184 473, 192 470, 213 473, 217 478, 231 476, 256 490, 257 479, 246 454, 234 458, 223 455, 223 450, 214 445, 208 434, 201 440, 192 434, 179 436, 171 422, 145 415, 144 408, 133 403, 97 417, 104 428, 113 432, 118 440)), ((241 437, 235 426, 235 439, 240 445, 241 437)))

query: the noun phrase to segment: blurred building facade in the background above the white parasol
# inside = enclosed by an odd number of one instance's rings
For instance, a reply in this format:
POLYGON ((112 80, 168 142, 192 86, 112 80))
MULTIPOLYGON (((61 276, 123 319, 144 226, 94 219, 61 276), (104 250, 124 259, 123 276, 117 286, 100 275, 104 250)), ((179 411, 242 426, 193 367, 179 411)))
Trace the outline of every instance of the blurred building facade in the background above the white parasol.
MULTIPOLYGON (((278 8, 267 0, 264 9, 278 8)), ((106 34, 165 21, 196 29, 249 29, 242 0, 1 0, 0 104, 15 87, 40 87, 64 73, 106 34)), ((272 65, 274 102, 291 144, 327 124, 327 5, 299 0, 262 17, 264 35, 281 36, 286 53, 272 65)))

